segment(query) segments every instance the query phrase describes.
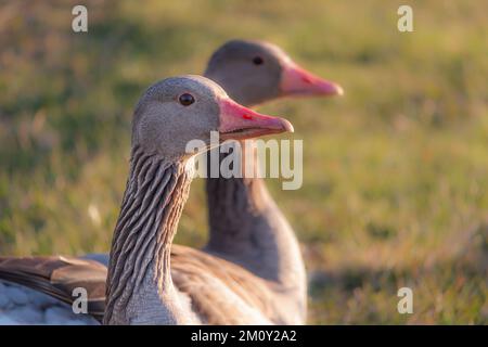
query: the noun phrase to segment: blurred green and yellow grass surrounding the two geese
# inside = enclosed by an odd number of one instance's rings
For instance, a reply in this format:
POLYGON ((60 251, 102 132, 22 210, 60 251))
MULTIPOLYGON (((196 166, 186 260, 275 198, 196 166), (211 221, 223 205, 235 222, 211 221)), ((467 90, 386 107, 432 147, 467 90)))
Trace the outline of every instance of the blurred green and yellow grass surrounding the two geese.
MULTIPOLYGON (((2 1, 0 254, 107 252, 146 86, 201 73, 230 38, 282 46, 343 99, 281 100, 305 139, 283 192, 310 274, 310 323, 488 323, 486 1, 2 1), (78 2, 76 2, 78 3, 78 2), (414 313, 397 312, 410 286, 414 313)), ((202 180, 177 236, 206 240, 202 180)))

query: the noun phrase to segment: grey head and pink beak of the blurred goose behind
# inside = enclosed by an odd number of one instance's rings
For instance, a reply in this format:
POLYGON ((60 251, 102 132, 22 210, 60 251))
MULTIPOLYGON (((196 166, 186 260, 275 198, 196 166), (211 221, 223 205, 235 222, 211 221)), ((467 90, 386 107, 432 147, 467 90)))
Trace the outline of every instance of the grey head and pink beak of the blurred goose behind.
POLYGON ((337 83, 307 72, 278 46, 262 41, 224 43, 211 55, 205 76, 245 105, 280 97, 343 94, 337 83))

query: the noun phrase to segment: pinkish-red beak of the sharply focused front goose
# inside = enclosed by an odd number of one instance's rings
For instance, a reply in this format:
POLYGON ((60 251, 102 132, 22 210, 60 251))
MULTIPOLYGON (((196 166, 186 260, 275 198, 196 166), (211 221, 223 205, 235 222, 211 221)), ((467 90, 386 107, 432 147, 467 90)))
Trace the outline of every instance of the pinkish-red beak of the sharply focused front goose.
POLYGON ((292 124, 283 118, 267 116, 244 107, 231 99, 219 101, 221 140, 245 140, 265 134, 293 132, 292 124))

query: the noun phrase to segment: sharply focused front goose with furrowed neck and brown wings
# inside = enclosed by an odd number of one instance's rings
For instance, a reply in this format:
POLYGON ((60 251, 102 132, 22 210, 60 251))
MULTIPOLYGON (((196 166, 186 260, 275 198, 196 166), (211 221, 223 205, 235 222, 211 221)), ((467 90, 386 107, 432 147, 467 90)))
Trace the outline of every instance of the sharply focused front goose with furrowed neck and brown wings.
MULTIPOLYGON (((201 140, 198 150, 205 151, 213 130, 222 140, 242 140, 293 131, 293 127, 236 104, 204 77, 168 78, 147 89, 133 117, 130 172, 112 242, 104 323, 257 324, 272 323, 279 316, 273 311, 280 307, 267 301, 280 296, 279 290, 245 269, 187 247, 175 253, 184 260, 170 261, 193 175, 194 154, 188 153, 187 144, 201 140)), ((75 267, 80 275, 84 271, 103 275, 100 264, 91 260, 2 258, 1 264, 3 278, 29 279, 39 287, 49 283, 44 274, 56 279, 55 272, 63 268, 75 267), (25 272, 31 275, 24 277, 25 272)), ((2 284, 2 300, 9 300, 10 286, 2 284)), ((57 292, 62 297, 63 290, 57 292)), ((0 317, 15 311, 15 300, 3 305, 0 317)))

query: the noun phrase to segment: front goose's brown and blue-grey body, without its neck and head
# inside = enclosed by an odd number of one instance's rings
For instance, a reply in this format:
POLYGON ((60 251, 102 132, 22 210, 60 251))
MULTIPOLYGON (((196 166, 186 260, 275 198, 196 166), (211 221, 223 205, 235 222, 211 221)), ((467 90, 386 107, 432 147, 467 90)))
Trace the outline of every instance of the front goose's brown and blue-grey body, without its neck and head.
MULTIPOLYGON (((99 260, 108 260, 104 255, 102 258, 99 260)), ((5 307, 0 306, 0 317, 1 311, 10 317, 0 323, 98 324, 105 307, 106 274, 107 268, 98 260, 61 256, 0 258, 0 278, 15 282, 0 282, 0 297, 5 303, 5 307), (76 287, 88 290, 88 316, 73 313, 72 305, 78 297, 73 294, 76 287), (24 299, 16 299, 15 295, 24 299)), ((280 319, 284 312, 277 313, 284 307, 273 305, 272 298, 282 293, 272 282, 219 257, 174 245, 171 278, 181 299, 190 301, 198 312, 195 323, 287 323, 280 319)))

